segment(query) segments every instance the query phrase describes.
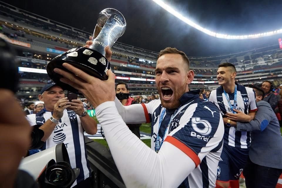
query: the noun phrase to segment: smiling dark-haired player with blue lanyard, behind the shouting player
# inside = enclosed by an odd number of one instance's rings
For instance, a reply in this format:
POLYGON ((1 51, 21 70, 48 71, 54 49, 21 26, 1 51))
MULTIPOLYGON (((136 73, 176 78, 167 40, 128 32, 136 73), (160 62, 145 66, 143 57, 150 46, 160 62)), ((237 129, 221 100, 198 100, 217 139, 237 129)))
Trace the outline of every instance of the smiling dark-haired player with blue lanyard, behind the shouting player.
POLYGON ((236 68, 231 63, 222 63, 217 70, 217 80, 220 87, 209 95, 221 111, 225 126, 224 145, 217 170, 216 187, 239 188, 239 177, 248 159, 251 144, 250 132, 236 131, 230 127, 230 118, 244 122, 237 112, 243 111, 253 120, 257 106, 255 93, 252 88, 247 88, 235 83, 236 68))

